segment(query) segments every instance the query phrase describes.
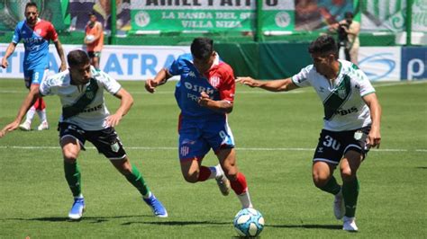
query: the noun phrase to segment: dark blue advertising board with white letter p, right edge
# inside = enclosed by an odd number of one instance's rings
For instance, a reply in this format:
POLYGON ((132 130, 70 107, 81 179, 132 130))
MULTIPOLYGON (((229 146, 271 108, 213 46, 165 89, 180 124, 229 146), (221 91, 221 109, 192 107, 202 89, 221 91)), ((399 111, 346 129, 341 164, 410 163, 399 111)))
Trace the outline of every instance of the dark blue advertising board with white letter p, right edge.
POLYGON ((402 79, 427 79, 427 48, 402 49, 402 79))

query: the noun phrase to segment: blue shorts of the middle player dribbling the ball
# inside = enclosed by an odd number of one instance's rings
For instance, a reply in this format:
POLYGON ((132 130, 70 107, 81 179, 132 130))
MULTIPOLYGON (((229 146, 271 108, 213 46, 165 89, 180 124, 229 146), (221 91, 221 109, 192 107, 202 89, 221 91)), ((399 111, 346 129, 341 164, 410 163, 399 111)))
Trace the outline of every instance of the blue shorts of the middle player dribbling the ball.
POLYGON ((180 161, 202 159, 211 148, 216 154, 219 149, 234 147, 225 115, 208 120, 180 117, 178 133, 180 161))

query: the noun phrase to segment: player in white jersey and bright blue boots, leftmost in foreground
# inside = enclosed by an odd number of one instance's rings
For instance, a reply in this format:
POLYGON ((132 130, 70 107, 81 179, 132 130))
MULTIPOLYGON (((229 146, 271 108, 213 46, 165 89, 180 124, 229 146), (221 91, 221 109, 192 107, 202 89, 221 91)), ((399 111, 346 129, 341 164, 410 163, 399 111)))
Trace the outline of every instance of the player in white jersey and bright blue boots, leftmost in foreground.
MULTIPOLYGON (((41 96, 57 94, 62 104, 59 144, 64 158, 65 178, 74 196, 68 217, 71 220, 80 219, 85 208, 77 156, 82 149, 85 150, 86 140, 140 191, 142 199, 156 217, 168 217, 166 208, 150 191, 139 170, 130 163, 122 141, 114 129, 131 109, 132 95, 110 75, 90 66, 90 59, 83 50, 77 49, 68 53, 68 66, 68 70, 51 75, 40 85, 41 96), (104 90, 121 100, 120 107, 114 114, 110 114, 105 106, 104 90)), ((18 128, 23 115, 37 99, 38 96, 34 95, 30 101, 24 102, 16 120, 0 131, 0 137, 18 128)))

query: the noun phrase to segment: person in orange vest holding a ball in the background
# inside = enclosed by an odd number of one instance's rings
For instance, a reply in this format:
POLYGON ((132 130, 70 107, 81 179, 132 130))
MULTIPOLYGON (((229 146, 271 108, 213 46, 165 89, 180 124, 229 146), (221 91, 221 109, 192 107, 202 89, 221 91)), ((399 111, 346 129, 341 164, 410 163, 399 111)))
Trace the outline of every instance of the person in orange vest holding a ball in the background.
POLYGON ((104 48, 104 30, 101 22, 96 21, 95 13, 89 13, 89 22, 85 29, 85 44, 92 66, 99 70, 101 51, 104 48))

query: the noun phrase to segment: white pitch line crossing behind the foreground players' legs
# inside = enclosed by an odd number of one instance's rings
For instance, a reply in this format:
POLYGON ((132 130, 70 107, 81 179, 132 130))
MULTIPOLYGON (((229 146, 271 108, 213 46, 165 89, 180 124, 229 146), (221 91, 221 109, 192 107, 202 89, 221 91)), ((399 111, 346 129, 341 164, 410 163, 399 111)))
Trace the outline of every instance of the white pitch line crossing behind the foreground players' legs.
MULTIPOLYGON (((177 150, 177 147, 170 146, 125 146, 129 150, 177 150)), ((0 146, 0 149, 55 149, 59 146, 0 146)), ((86 146, 86 149, 95 149, 94 146, 86 146)), ((314 148, 305 147, 236 147, 238 151, 313 151, 314 148)), ((427 153, 427 149, 404 149, 404 148, 375 148, 370 152, 418 152, 427 153)))

